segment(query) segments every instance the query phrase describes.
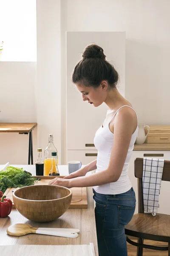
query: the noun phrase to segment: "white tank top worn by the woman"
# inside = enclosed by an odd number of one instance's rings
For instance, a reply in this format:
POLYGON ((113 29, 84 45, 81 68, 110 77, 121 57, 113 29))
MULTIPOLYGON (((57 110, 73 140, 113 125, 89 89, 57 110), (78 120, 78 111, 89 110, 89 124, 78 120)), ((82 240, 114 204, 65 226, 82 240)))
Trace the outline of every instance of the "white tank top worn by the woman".
MULTIPOLYGON (((127 106, 127 105, 124 105, 121 108, 123 108, 125 106, 127 106)), ((131 108, 130 106, 127 106, 127 107, 131 108)), ((119 109, 116 111, 116 113, 119 111, 119 109)), ((114 114, 114 116, 116 115, 116 113, 114 114)), ((136 113, 136 111, 135 111, 135 113, 136 113)), ((112 119, 113 119, 113 117, 112 117, 112 119)), ((136 117, 137 117, 137 114, 136 114, 136 117)), ((109 124, 110 124, 110 122, 109 122, 109 124)), ((96 172, 101 172, 101 171, 107 169, 108 165, 109 165, 109 160, 111 157, 111 151, 112 151, 113 141, 114 141, 114 134, 109 129, 109 124, 105 125, 104 127, 102 127, 102 125, 101 125, 100 128, 96 131, 96 134, 94 137, 94 145, 95 145, 96 149, 98 150, 96 172)), ((111 182, 111 183, 107 183, 107 184, 100 185, 100 186, 94 186, 93 188, 97 193, 105 194, 105 195, 116 195, 116 194, 125 193, 132 187, 132 184, 127 175, 127 171, 128 171, 130 157, 132 155, 132 151, 133 151, 134 143, 136 141, 137 134, 138 134, 138 118, 137 118, 137 127, 136 127, 136 130, 134 131, 134 133, 132 134, 132 137, 130 140, 130 145, 129 145, 129 148, 127 151, 125 164, 123 166, 122 173, 119 177, 119 180, 117 180, 116 182, 111 182)))

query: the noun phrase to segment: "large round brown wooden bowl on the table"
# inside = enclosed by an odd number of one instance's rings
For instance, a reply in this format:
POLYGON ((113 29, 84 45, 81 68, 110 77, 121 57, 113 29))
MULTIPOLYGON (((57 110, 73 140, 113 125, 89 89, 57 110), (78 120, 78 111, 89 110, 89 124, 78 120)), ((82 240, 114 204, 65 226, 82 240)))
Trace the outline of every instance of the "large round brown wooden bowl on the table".
POLYGON ((31 221, 47 222, 59 218, 71 204, 70 189, 54 185, 33 185, 16 189, 16 209, 31 221))

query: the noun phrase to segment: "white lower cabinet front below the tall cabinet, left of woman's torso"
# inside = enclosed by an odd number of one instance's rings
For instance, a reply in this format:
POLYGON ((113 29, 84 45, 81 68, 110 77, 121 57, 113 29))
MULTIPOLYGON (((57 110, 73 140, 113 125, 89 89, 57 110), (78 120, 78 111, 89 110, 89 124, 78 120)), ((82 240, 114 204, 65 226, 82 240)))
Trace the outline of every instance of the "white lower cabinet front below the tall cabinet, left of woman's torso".
POLYGON ((81 161, 88 164, 97 158, 97 150, 68 150, 67 161, 81 161))

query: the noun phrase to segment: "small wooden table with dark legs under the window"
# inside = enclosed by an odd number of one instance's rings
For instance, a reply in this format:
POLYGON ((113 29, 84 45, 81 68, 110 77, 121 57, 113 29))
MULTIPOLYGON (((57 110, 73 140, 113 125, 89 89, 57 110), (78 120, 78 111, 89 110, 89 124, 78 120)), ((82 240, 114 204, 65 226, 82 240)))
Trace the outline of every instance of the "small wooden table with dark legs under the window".
POLYGON ((29 134, 28 164, 33 164, 33 148, 32 148, 32 130, 37 123, 0 123, 0 132, 17 132, 19 134, 29 134))

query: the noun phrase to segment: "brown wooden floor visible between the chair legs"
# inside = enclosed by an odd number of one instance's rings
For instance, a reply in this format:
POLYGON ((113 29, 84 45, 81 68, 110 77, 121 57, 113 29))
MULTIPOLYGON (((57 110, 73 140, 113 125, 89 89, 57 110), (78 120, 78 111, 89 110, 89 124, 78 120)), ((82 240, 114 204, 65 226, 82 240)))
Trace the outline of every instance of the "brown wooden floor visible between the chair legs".
MULTIPOLYGON (((136 240, 133 240, 136 242, 136 240)), ((150 244, 155 246, 168 246, 167 243, 144 240, 144 244, 150 244)), ((136 256, 137 247, 127 243, 128 256, 136 256)), ((157 251, 157 250, 143 250, 143 256, 168 256, 168 251, 157 251)))

